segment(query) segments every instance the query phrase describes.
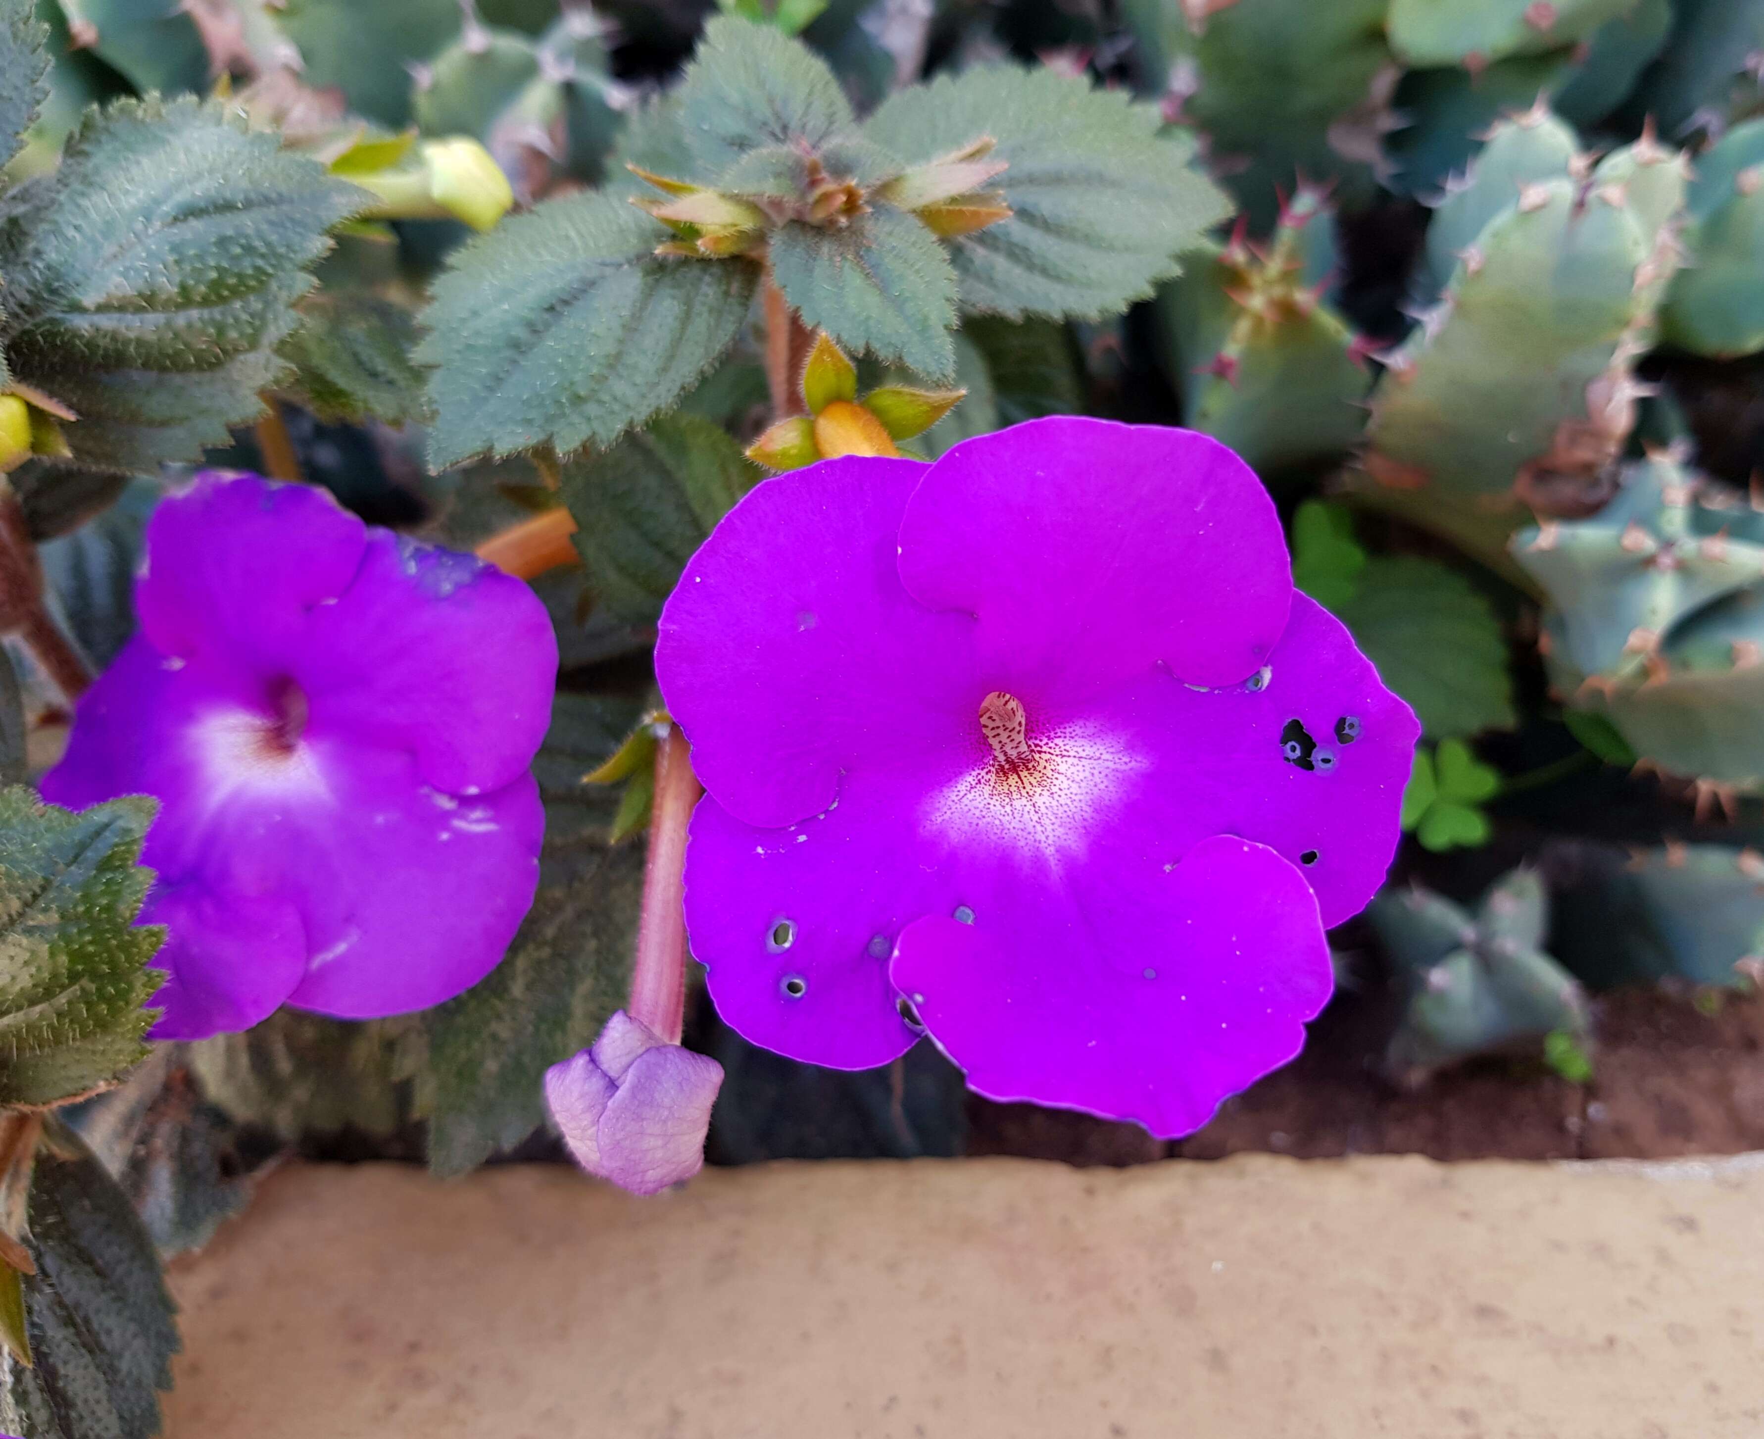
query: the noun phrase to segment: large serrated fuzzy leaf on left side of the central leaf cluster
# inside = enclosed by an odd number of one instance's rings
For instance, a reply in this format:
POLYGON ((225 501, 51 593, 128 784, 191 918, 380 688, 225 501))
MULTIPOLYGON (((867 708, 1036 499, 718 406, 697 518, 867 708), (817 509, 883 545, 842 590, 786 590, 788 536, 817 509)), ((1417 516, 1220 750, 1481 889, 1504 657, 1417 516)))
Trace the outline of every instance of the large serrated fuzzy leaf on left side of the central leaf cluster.
POLYGON ((676 404, 734 342, 759 268, 658 257, 665 235, 616 196, 582 194, 462 247, 416 351, 436 367, 429 462, 605 446, 676 404))

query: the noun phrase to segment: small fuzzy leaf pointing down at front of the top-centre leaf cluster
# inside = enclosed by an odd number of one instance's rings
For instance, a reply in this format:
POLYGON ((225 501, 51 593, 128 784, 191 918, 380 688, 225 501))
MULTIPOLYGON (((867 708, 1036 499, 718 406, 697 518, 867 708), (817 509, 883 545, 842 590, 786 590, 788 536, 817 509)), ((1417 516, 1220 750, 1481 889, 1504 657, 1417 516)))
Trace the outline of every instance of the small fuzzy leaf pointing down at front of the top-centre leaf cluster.
POLYGON ((905 210, 878 205, 843 229, 787 224, 771 238, 773 279, 803 323, 852 351, 937 381, 956 372, 956 275, 905 210))

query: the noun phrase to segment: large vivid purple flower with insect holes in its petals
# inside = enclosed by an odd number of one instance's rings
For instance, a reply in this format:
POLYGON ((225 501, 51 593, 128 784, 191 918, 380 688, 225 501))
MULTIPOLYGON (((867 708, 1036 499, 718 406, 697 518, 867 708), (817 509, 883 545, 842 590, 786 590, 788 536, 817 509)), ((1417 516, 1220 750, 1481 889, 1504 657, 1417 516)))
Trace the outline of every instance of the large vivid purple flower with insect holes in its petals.
POLYGON ((759 485, 656 674, 734 1028, 1161 1136, 1298 1051, 1416 739, 1230 450, 1078 418, 759 485))

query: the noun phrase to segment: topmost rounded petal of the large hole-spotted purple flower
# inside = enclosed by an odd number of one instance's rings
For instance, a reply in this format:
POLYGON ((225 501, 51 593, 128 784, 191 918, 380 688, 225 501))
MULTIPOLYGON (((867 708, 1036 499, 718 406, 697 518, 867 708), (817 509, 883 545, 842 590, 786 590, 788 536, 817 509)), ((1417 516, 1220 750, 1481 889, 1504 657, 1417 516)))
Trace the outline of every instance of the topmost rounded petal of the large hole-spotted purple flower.
POLYGON ((1067 700, 1162 663, 1235 684, 1286 626, 1279 515, 1237 455, 1192 430, 1055 416, 931 466, 900 527, 923 605, 979 617, 990 684, 1067 700))

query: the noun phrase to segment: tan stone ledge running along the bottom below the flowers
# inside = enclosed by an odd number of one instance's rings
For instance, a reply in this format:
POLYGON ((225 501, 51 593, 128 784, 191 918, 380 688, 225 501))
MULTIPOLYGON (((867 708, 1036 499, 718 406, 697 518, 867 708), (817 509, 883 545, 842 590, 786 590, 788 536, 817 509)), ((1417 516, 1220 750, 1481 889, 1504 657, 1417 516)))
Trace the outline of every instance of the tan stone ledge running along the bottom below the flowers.
POLYGON ((1764 1159, 291 1167, 169 1439, 1757 1439, 1764 1159))

